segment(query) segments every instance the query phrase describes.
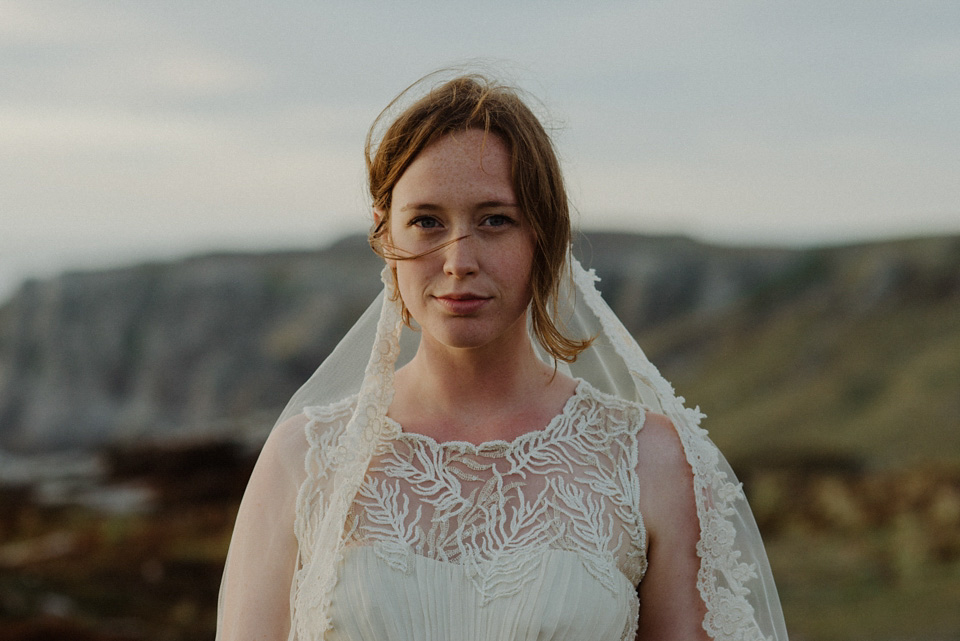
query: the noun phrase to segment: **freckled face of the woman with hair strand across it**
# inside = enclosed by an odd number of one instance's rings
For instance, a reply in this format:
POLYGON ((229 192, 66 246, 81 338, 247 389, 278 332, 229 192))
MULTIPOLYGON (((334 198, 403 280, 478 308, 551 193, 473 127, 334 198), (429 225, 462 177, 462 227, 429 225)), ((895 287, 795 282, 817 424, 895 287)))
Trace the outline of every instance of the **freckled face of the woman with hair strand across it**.
POLYGON ((422 340, 480 348, 525 337, 534 240, 505 143, 472 129, 441 138, 410 164, 391 202, 389 241, 400 254, 450 243, 388 261, 422 340))

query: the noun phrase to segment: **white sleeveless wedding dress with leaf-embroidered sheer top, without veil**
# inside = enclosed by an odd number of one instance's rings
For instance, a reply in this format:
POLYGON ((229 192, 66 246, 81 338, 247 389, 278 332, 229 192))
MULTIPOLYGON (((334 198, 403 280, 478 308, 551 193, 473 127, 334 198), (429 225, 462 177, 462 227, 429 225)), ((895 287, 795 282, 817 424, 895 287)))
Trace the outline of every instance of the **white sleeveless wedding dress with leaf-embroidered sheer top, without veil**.
MULTIPOLYGON (((302 576, 324 561, 309 551, 353 401, 305 411, 302 576)), ((347 518, 324 638, 632 639, 646 567, 643 422, 639 405, 580 381, 548 426, 509 443, 403 432, 382 443, 347 518)))

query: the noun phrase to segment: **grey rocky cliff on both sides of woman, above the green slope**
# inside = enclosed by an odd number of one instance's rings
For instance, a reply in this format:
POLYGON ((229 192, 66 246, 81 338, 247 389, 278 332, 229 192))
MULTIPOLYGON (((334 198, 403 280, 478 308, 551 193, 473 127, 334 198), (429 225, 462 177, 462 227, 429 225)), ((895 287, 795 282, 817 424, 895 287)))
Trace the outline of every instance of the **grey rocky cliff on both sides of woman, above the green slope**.
MULTIPOLYGON (((917 273, 928 289, 932 278, 944 295, 960 295, 960 263, 949 259, 960 255, 958 239, 800 251, 589 234, 577 253, 628 329, 651 337, 661 364, 705 349, 715 328, 729 327, 722 319, 812 291, 856 302, 843 313, 916 290, 917 273), (940 257, 933 267, 931 252, 940 257)), ((312 253, 206 256, 27 283, 0 308, 0 447, 269 426, 379 291, 381 264, 354 237, 312 253)))

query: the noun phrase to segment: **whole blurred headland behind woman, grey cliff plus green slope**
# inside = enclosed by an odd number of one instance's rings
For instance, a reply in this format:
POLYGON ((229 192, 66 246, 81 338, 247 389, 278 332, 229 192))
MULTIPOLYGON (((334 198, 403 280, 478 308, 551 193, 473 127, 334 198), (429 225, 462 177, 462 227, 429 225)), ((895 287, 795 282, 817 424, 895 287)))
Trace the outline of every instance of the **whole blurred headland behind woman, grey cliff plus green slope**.
MULTIPOLYGON (((814 429, 813 445, 775 434, 822 420, 803 403, 831 381, 856 423, 913 380, 909 406, 960 432, 960 238, 786 250, 606 233, 577 253, 737 456, 856 449, 854 428, 814 429)), ((28 282, 0 308, 0 448, 262 433, 379 291, 379 269, 351 237, 28 282)))

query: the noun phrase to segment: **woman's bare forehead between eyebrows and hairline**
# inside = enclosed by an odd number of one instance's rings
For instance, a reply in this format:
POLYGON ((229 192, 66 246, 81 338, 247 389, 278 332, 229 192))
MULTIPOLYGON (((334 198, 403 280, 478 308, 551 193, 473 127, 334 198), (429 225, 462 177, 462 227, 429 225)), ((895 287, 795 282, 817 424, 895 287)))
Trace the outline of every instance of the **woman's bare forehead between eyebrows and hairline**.
MULTIPOLYGON (((451 133, 414 158, 393 189, 394 203, 419 199, 514 200, 510 151, 493 133, 451 133)), ((401 205, 402 206, 402 205, 401 205)))

